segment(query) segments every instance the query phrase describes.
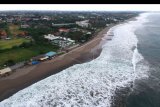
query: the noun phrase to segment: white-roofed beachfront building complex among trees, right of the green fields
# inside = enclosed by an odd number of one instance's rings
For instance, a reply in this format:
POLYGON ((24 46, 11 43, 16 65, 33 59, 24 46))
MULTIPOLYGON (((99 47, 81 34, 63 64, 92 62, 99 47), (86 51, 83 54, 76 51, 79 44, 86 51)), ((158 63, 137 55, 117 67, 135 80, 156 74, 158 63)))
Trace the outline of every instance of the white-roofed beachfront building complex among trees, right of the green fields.
POLYGON ((54 36, 52 34, 44 35, 44 38, 48 39, 49 41, 51 41, 51 43, 56 44, 62 48, 75 44, 75 40, 61 36, 54 36))

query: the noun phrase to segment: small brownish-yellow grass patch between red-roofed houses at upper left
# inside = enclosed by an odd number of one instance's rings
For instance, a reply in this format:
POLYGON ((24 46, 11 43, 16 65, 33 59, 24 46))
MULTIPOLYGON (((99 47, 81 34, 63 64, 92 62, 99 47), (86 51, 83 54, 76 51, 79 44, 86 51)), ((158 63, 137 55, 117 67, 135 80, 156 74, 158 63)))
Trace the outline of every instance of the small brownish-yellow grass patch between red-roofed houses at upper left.
POLYGON ((12 36, 16 36, 17 34, 24 32, 19 30, 20 27, 18 25, 14 25, 14 24, 9 24, 8 28, 12 36))

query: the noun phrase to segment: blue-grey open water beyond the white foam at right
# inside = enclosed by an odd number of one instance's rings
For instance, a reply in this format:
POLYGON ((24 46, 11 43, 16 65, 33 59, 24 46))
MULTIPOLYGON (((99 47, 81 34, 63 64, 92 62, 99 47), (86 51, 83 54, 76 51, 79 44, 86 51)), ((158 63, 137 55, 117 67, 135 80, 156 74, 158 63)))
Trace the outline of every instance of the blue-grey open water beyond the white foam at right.
POLYGON ((160 13, 150 13, 135 31, 138 50, 149 63, 148 78, 137 80, 126 107, 160 107, 160 13))

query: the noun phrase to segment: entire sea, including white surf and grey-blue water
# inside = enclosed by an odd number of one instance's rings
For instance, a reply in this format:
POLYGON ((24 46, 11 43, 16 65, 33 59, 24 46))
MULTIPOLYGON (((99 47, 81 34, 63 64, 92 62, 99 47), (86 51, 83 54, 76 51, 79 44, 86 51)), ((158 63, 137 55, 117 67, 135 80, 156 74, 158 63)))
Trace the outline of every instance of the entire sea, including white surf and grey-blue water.
POLYGON ((0 107, 160 107, 159 18, 142 13, 112 27, 99 57, 17 92, 0 107))

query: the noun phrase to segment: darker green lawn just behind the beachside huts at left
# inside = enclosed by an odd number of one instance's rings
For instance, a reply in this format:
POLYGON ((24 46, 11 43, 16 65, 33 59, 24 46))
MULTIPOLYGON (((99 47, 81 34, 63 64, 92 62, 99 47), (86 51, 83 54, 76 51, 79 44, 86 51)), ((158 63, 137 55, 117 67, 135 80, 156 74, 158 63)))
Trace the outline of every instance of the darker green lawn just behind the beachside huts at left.
POLYGON ((16 48, 4 51, 0 53, 0 69, 8 60, 13 60, 14 62, 21 62, 24 60, 29 60, 33 56, 56 50, 57 48, 52 45, 34 45, 29 48, 16 48))

